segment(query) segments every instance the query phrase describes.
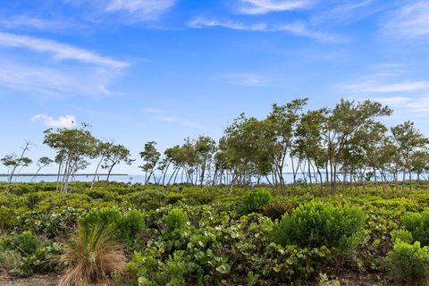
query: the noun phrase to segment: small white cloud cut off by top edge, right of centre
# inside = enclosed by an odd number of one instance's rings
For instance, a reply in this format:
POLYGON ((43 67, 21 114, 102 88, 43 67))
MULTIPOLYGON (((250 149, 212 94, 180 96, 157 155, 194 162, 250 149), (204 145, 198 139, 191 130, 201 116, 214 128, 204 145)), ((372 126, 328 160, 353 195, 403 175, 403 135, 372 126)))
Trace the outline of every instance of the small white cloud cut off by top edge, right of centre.
POLYGON ((243 14, 265 14, 308 8, 314 0, 239 0, 237 12, 243 14))

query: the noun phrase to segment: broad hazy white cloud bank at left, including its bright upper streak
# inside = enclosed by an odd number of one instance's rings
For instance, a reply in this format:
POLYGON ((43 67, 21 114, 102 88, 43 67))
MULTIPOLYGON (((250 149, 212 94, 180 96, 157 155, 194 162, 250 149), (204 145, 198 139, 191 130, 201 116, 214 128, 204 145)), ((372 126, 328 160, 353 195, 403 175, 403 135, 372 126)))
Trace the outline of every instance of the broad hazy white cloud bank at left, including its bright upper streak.
POLYGON ((110 95, 109 84, 129 65, 54 40, 6 32, 0 32, 0 47, 19 50, 0 55, 0 86, 46 98, 110 95))

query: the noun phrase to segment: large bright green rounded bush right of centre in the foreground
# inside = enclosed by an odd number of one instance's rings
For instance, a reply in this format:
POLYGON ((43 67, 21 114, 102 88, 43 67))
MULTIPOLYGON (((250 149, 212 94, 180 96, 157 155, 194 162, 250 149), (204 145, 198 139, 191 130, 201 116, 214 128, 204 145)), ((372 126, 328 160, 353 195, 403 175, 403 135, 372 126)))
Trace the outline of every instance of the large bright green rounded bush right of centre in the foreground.
POLYGON ((273 228, 273 241, 306 248, 338 248, 341 252, 357 247, 364 229, 365 215, 357 206, 333 206, 310 202, 285 214, 273 228))

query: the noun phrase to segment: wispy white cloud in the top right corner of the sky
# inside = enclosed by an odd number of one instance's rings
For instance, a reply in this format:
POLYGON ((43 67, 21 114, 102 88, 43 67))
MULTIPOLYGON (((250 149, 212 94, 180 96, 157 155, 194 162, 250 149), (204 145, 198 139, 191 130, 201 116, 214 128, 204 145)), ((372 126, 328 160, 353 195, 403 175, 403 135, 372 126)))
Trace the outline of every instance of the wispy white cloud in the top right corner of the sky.
POLYGON ((408 1, 391 14, 384 25, 391 35, 401 37, 427 37, 429 35, 429 2, 408 1))

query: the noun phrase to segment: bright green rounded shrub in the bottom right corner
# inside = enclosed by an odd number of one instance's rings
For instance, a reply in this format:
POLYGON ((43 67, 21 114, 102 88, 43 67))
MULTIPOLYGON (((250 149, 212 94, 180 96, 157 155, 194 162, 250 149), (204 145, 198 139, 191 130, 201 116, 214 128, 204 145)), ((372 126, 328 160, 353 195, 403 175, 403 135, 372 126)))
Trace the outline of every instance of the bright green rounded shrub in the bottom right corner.
POLYGON ((407 285, 426 285, 429 282, 429 248, 416 241, 409 244, 397 240, 386 259, 391 278, 407 285))

